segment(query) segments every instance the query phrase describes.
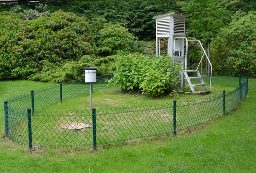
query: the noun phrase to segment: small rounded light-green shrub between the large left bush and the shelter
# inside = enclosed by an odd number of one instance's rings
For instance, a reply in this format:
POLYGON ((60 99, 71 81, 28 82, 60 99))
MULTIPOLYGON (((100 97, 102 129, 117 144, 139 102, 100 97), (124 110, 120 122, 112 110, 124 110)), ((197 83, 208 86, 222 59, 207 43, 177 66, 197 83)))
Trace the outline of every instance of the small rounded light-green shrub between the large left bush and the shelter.
POLYGON ((107 53, 116 53, 118 50, 132 51, 134 50, 134 36, 128 32, 128 29, 119 24, 105 24, 105 27, 99 30, 100 39, 99 47, 107 50, 107 53), (107 49, 108 47, 109 49, 107 49))

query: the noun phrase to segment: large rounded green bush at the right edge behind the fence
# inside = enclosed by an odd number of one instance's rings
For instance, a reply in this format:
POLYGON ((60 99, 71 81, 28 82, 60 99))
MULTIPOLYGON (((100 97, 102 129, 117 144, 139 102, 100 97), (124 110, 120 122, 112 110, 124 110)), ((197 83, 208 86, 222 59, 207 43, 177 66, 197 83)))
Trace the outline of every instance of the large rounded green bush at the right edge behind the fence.
POLYGON ((256 11, 237 11, 213 45, 215 72, 256 76, 256 11))

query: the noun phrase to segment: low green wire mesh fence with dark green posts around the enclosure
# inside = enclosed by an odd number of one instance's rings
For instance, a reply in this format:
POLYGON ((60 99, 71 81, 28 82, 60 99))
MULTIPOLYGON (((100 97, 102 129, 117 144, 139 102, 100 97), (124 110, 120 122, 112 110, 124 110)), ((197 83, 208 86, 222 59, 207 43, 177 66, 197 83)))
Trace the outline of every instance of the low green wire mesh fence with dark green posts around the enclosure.
MULTIPOLYGON (((110 87, 112 76, 97 77, 93 91, 110 87)), ((212 86, 233 87, 207 99, 92 111, 42 111, 83 94, 84 80, 52 85, 4 102, 5 133, 14 142, 32 147, 84 147, 176 134, 233 110, 248 94, 248 78, 213 75, 212 86)))

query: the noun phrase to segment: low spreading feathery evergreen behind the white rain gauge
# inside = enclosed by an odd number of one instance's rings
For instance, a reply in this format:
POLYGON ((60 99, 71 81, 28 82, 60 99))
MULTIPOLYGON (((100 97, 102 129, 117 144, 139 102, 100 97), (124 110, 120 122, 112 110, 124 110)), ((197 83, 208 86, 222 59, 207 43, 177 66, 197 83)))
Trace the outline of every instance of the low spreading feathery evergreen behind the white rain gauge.
POLYGON ((97 75, 113 74, 115 65, 113 61, 116 56, 93 59, 89 55, 84 55, 79 61, 66 62, 60 67, 53 65, 47 60, 41 61, 41 71, 32 74, 29 80, 39 80, 41 82, 66 82, 73 79, 84 78, 84 67, 98 67, 97 75))

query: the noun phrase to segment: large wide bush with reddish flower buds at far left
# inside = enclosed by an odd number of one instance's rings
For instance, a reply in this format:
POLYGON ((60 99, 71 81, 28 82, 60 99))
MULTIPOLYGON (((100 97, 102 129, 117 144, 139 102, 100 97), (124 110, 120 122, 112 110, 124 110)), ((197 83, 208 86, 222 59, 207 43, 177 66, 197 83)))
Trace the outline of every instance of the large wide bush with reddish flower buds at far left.
POLYGON ((13 10, 0 16, 0 80, 35 74, 42 60, 60 65, 95 51, 86 18, 61 10, 34 20, 13 10))

